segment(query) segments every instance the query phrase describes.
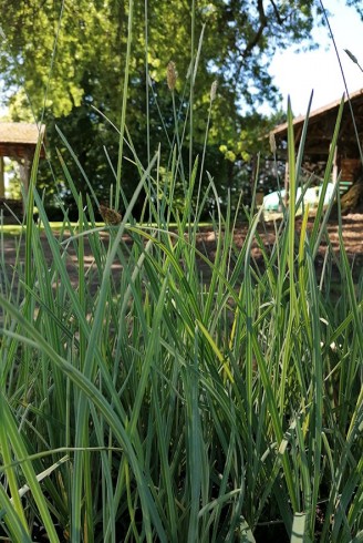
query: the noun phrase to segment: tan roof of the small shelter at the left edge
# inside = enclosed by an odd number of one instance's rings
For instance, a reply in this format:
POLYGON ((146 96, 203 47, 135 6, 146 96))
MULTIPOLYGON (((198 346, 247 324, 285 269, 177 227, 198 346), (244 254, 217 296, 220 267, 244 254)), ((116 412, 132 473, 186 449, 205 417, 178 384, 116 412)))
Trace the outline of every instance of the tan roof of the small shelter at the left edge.
MULTIPOLYGON (((31 123, 0 123, 0 156, 32 157, 39 137, 44 140, 45 125, 31 123)), ((41 157, 45 152, 42 146, 41 157)))

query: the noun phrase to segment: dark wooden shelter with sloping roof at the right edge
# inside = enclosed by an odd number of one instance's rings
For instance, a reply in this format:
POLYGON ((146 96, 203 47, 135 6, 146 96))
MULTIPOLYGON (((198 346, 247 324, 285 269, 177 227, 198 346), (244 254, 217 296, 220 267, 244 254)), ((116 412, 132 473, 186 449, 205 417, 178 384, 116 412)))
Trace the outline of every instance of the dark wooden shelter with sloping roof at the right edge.
MULTIPOLYGON (((353 125, 353 111, 355 124, 359 132, 361 145, 363 143, 363 89, 350 95, 351 106, 345 98, 343 116, 340 125, 338 145, 334 153, 332 182, 336 182, 338 174, 341 173, 340 188, 344 192, 362 173, 362 161, 360 156, 356 133, 353 125)), ((328 161, 331 141, 335 127, 338 110, 341 100, 328 104, 319 110, 312 111, 309 115, 307 139, 304 142, 303 167, 310 174, 318 177, 322 175, 328 161)), ((295 150, 299 147, 305 115, 301 115, 293 121, 295 150)), ((272 131, 280 160, 287 158, 288 123, 280 124, 272 131)), ((288 184, 288 170, 286 176, 288 184)))

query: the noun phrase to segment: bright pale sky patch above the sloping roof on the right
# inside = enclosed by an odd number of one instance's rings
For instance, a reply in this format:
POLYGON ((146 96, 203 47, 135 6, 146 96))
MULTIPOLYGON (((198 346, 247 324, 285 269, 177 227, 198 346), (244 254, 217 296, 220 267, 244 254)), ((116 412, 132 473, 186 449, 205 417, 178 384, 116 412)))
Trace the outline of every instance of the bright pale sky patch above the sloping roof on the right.
MULTIPOLYGON (((329 22, 351 93, 363 88, 363 73, 346 55, 344 49, 353 53, 363 66, 363 21, 354 8, 345 6, 344 0, 324 0, 323 4, 331 13, 329 22)), ((328 29, 314 29, 312 38, 320 44, 318 50, 297 53, 295 48, 289 48, 277 53, 269 68, 283 96, 282 109, 287 109, 290 95, 294 115, 307 112, 312 90, 314 94, 311 111, 340 100, 344 92, 336 53, 328 29)), ((263 110, 265 112, 267 111, 263 110)))

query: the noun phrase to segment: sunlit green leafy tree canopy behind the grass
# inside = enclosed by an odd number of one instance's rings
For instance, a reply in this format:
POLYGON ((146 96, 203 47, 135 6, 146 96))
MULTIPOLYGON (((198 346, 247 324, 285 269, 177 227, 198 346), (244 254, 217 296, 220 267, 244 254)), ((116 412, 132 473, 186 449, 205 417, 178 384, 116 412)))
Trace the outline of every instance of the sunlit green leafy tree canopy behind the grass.
MULTIPOLYGON (((359 0, 346 3, 363 17, 359 0)), ((0 0, 0 69, 12 119, 39 120, 44 111, 51 153, 55 142, 61 146, 56 124, 101 193, 107 192, 112 177, 101 155, 106 147, 111 161, 115 160, 117 133, 92 105, 118 124, 128 6, 124 0, 0 0)), ((257 113, 258 105, 278 105, 278 89, 268 72, 271 57, 291 43, 314 47, 310 32, 314 24, 324 24, 323 12, 314 0, 135 2, 127 127, 142 161, 147 158, 147 110, 153 146, 159 142, 163 146, 166 133, 173 135, 166 66, 170 60, 176 63, 176 96, 183 100, 190 82, 191 20, 195 54, 201 44, 194 101, 196 150, 204 142, 210 85, 217 79, 210 168, 219 184, 228 184, 234 164, 248 161, 260 145, 267 121, 257 113)), ((182 105, 180 121, 186 114, 182 105)), ((124 176, 132 191, 133 181, 127 178, 132 168, 125 167, 124 176)))

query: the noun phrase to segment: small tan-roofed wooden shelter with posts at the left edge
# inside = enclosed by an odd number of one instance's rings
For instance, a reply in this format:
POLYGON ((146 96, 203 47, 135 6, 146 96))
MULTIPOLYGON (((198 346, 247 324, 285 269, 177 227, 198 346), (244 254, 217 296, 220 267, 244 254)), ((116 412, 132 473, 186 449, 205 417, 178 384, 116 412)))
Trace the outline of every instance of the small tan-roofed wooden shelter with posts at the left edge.
MULTIPOLYGON (((28 191, 31 165, 39 139, 44 143, 45 125, 31 123, 0 123, 0 204, 6 201, 3 157, 8 156, 20 164, 20 178, 28 191)), ((42 144, 40 157, 44 158, 42 144)))

